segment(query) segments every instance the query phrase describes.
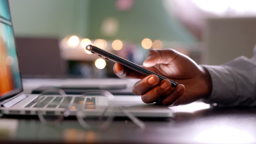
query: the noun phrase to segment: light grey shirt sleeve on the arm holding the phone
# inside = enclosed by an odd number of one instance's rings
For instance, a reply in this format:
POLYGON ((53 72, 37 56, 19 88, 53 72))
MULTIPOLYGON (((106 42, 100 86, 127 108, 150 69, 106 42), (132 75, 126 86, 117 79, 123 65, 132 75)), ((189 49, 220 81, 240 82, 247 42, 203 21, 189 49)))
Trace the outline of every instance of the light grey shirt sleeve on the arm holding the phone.
POLYGON ((209 71, 212 79, 212 93, 204 102, 256 106, 256 46, 251 59, 242 56, 223 65, 202 66, 209 71))

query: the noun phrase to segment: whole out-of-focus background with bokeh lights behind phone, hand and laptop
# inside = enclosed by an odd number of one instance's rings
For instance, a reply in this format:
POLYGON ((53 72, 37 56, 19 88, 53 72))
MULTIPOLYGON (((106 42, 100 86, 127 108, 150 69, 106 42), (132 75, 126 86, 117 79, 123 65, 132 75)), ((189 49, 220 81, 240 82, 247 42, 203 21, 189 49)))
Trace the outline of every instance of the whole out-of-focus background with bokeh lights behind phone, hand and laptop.
POLYGON ((141 65, 173 48, 198 64, 250 58, 255 0, 10 0, 23 77, 115 77, 93 44, 141 65))

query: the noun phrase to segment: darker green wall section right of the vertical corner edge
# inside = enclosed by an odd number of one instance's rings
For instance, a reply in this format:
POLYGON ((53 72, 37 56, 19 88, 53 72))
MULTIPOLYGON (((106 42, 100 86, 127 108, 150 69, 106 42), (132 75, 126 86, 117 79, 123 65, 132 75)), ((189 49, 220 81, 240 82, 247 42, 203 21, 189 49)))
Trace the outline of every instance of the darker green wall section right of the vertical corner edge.
POLYGON ((195 38, 164 9, 162 0, 134 0, 129 11, 118 11, 116 0, 91 0, 89 36, 92 39, 122 39, 141 42, 145 37, 152 40, 160 39, 193 43, 195 38), (107 17, 115 17, 120 22, 120 31, 114 37, 101 34, 101 23, 107 17))

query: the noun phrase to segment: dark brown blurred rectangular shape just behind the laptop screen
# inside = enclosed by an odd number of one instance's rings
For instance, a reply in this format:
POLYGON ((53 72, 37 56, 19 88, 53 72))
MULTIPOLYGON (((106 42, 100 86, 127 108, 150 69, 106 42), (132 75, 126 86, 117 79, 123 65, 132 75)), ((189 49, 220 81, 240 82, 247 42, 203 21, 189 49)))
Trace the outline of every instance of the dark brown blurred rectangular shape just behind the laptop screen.
POLYGON ((22 77, 62 77, 67 64, 61 59, 57 38, 16 38, 22 77))

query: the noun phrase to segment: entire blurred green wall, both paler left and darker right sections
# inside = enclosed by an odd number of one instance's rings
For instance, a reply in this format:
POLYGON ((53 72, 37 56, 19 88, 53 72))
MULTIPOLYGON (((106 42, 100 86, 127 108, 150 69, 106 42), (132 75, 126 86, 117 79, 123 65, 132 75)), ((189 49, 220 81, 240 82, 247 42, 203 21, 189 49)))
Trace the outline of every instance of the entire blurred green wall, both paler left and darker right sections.
POLYGON ((195 38, 167 14, 162 0, 134 0, 130 11, 117 11, 116 0, 10 0, 17 36, 64 37, 77 34, 91 39, 121 39, 140 43, 145 37, 193 43, 195 38), (113 37, 102 35, 105 18, 115 17, 120 30, 113 37))

